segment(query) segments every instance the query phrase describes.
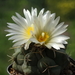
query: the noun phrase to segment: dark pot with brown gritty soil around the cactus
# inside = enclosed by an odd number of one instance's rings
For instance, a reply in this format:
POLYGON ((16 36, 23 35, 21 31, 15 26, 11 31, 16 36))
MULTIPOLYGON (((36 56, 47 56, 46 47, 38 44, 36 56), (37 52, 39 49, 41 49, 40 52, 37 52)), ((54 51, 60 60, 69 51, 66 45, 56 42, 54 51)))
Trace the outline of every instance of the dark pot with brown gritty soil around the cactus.
MULTIPOLYGON (((71 63, 69 65, 69 68, 62 70, 60 75, 75 75, 75 61, 70 57, 69 57, 69 59, 70 59, 70 63, 71 63)), ((14 70, 12 68, 12 64, 7 67, 7 73, 9 75, 24 75, 22 72, 14 70)), ((30 74, 30 75, 34 75, 34 74, 30 74)), ((37 74, 35 74, 35 75, 37 75, 37 74)))

